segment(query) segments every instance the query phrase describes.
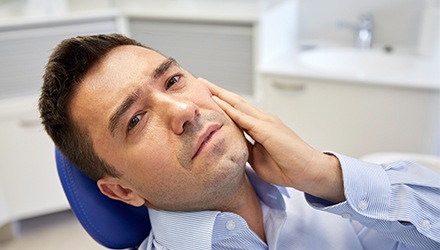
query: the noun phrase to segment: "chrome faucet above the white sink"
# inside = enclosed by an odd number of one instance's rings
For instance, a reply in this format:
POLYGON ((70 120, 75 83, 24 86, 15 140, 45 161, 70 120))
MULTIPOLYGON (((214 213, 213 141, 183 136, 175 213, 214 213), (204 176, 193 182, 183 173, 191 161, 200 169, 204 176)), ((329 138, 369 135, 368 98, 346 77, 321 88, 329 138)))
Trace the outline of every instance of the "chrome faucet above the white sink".
POLYGON ((373 16, 369 13, 359 16, 357 24, 337 22, 340 28, 348 28, 355 32, 355 46, 359 49, 370 49, 373 42, 373 16))

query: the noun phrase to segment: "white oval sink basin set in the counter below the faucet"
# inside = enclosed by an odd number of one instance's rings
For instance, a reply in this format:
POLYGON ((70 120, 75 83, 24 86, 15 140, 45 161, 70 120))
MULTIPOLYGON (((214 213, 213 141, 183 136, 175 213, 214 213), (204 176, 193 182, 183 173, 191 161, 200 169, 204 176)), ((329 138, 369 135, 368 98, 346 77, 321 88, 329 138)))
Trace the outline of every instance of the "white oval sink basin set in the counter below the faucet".
POLYGON ((299 63, 308 68, 361 74, 408 70, 414 62, 415 57, 376 49, 320 48, 299 54, 299 63))

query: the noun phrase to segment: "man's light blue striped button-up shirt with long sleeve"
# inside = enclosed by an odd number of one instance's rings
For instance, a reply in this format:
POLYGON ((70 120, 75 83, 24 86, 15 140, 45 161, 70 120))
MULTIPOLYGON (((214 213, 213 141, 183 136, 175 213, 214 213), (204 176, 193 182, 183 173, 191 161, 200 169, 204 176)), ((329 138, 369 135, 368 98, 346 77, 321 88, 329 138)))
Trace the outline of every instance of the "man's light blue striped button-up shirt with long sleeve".
POLYGON ((347 201, 330 204, 247 174, 267 244, 233 213, 149 209, 140 249, 440 249, 440 175, 412 162, 365 163, 335 154, 347 201))

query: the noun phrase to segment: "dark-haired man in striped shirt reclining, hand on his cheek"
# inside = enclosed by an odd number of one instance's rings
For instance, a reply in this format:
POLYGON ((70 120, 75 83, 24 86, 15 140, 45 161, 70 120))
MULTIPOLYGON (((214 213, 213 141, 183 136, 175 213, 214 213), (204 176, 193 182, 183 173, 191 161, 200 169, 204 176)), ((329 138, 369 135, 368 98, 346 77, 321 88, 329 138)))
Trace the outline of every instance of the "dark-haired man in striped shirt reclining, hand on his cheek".
POLYGON ((43 79, 55 144, 102 193, 148 207, 141 249, 440 248, 438 175, 318 152, 134 40, 67 39, 43 79))

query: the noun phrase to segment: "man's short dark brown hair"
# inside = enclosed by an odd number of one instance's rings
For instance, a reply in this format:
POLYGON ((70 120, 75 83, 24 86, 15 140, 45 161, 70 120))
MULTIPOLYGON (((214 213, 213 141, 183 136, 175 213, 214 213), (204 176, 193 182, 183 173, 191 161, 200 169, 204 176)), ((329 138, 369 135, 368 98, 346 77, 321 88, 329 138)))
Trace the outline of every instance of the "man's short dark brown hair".
POLYGON ((96 154, 89 132, 73 122, 68 105, 87 72, 122 45, 151 49, 120 34, 73 37, 54 49, 43 76, 39 110, 46 132, 67 159, 95 181, 120 174, 96 154))

